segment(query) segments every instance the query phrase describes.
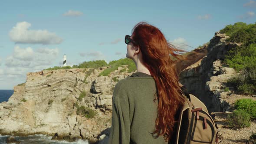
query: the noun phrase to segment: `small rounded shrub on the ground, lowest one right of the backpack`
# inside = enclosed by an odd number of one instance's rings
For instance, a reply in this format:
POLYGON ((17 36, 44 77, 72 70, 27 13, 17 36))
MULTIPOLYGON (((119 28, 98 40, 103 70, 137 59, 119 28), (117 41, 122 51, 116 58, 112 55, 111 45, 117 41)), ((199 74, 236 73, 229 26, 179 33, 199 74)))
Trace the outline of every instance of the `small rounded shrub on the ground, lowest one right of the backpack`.
POLYGON ((251 124, 250 115, 241 109, 228 115, 227 120, 230 128, 246 128, 251 124))

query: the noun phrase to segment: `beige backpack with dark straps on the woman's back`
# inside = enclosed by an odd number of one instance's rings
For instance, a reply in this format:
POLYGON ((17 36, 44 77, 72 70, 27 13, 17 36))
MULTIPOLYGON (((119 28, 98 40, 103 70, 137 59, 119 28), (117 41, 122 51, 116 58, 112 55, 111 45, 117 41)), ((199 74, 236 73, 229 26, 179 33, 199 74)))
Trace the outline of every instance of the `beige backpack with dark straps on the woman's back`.
POLYGON ((218 143, 217 130, 206 106, 187 92, 182 91, 186 99, 180 108, 174 139, 169 144, 215 144, 218 143), (175 142, 174 142, 175 141, 175 142))

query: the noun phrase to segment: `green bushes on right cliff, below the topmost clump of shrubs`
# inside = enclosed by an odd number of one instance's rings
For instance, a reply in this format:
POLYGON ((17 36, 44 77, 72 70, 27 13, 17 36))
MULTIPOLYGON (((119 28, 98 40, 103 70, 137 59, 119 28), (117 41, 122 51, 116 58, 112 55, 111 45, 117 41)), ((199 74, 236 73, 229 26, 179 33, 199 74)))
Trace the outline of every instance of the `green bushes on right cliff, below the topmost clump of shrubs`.
POLYGON ((239 92, 256 93, 256 44, 231 49, 225 56, 225 63, 240 72, 239 78, 229 81, 239 92))

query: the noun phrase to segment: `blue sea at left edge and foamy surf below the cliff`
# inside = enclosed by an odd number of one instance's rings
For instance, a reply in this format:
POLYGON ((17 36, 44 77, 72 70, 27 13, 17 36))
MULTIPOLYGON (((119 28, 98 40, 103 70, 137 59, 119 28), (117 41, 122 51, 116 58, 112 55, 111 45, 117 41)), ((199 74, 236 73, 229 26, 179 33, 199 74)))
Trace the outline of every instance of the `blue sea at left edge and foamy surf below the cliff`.
MULTIPOLYGON (((3 101, 8 101, 10 96, 13 95, 13 90, 0 90, 0 103, 3 101)), ((7 138, 9 135, 0 135, 0 144, 7 144, 7 138)), ((28 137, 14 137, 17 141, 20 141, 20 144, 89 144, 87 140, 78 140, 75 142, 68 141, 55 141, 51 140, 52 137, 35 134, 28 137)))

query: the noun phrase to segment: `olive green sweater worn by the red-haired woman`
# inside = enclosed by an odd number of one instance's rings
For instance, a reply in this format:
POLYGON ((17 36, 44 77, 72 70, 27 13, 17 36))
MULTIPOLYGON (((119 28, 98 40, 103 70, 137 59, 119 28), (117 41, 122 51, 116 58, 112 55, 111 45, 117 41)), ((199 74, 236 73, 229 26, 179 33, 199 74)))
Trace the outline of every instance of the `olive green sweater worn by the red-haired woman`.
MULTIPOLYGON (((153 101, 155 93, 153 77, 142 72, 115 85, 109 144, 167 144, 163 136, 154 138, 150 134, 158 113, 153 101)), ((158 104, 158 100, 155 102, 158 104)))

